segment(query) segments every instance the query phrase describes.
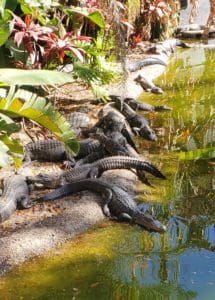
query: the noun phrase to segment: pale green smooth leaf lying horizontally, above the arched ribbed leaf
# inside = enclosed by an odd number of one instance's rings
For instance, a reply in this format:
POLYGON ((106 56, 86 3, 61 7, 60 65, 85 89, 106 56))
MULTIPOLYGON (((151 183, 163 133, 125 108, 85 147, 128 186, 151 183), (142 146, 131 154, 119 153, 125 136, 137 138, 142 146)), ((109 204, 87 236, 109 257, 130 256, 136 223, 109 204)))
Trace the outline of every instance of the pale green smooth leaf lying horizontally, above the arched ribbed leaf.
POLYGON ((58 71, 0 69, 0 82, 8 85, 54 85, 73 81, 71 75, 58 71))

